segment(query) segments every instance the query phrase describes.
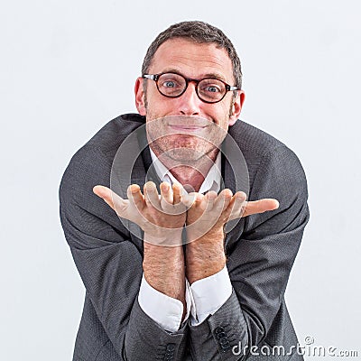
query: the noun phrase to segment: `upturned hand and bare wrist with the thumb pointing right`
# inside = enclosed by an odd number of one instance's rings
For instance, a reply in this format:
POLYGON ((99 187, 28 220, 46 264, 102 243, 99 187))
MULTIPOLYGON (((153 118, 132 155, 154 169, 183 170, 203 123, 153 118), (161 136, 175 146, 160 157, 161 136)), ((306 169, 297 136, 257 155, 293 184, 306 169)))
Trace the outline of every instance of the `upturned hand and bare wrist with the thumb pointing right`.
MULTIPOLYGON (((194 197, 194 196, 193 196, 194 197)), ((226 264, 224 226, 228 220, 262 213, 279 207, 276 199, 245 202, 245 193, 222 190, 219 195, 209 191, 195 199, 182 197, 190 207, 187 212, 187 278, 192 284, 218 273, 226 264), (195 241, 195 242, 192 242, 195 241)))

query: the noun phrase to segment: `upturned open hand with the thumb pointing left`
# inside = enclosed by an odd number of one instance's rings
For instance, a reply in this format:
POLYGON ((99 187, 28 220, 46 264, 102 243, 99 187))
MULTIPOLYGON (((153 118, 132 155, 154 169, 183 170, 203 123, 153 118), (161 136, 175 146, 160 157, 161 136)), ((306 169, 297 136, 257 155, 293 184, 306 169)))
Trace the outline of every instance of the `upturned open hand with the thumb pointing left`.
POLYGON ((182 227, 186 221, 186 208, 180 203, 180 184, 161 184, 161 195, 152 181, 144 184, 143 194, 137 184, 127 189, 128 199, 122 199, 104 186, 93 189, 98 197, 116 211, 116 214, 136 223, 144 231, 144 240, 154 244, 181 241, 182 227))

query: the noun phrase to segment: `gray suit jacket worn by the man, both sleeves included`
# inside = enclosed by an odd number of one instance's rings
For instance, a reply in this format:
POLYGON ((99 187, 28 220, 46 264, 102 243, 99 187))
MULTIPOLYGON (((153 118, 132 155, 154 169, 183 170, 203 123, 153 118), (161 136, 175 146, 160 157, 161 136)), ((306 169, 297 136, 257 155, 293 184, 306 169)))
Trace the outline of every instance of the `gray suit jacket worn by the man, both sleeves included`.
MULTIPOLYGON (((242 218, 227 234, 232 295, 199 326, 186 324, 170 333, 137 301, 141 237, 131 234, 92 192, 97 184, 110 186, 119 145, 143 122, 143 116, 130 114, 107 123, 72 157, 60 183, 61 224, 86 287, 73 360, 303 359, 296 352, 298 340, 283 297, 309 219, 307 183, 296 155, 245 122, 229 128, 248 167, 248 199, 275 198, 280 208, 242 218), (265 356, 267 352, 274 356, 265 356)), ((149 150, 139 163, 135 178, 142 182, 149 150)), ((236 191, 227 162, 223 172, 225 187, 236 191)))

